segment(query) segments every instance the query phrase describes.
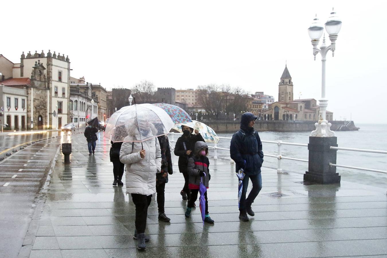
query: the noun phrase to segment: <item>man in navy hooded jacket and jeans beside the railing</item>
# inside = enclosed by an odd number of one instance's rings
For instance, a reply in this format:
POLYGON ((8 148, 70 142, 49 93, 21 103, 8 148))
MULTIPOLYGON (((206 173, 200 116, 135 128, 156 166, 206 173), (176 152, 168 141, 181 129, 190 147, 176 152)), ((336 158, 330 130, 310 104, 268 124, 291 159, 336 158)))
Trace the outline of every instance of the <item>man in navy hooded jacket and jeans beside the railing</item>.
POLYGON ((257 116, 250 112, 242 114, 240 130, 234 133, 230 145, 230 156, 236 164, 235 172, 237 173, 240 169, 243 169, 245 173, 239 207, 239 219, 242 221, 249 220, 247 214, 254 216, 251 205, 262 189, 261 167, 264 161, 264 153, 259 134, 253 128, 256 119, 257 116), (246 198, 249 178, 253 188, 246 198))

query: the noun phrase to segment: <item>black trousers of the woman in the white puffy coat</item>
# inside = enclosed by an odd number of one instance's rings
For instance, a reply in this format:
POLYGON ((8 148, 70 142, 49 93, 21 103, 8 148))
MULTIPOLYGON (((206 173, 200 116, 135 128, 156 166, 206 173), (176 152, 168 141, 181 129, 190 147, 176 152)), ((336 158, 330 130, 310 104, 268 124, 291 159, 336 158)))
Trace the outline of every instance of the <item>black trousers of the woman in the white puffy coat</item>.
POLYGON ((151 204, 152 195, 140 195, 138 193, 132 193, 132 200, 134 205, 136 205, 135 226, 137 234, 145 233, 148 206, 151 204))

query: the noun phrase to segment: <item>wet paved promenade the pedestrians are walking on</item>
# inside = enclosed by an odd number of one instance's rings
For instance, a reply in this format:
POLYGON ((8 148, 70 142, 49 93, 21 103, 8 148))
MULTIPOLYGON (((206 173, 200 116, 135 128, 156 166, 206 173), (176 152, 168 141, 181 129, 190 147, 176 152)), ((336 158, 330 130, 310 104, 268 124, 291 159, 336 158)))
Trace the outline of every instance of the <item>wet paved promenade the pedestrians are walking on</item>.
POLYGON ((179 194, 184 179, 175 156, 165 193, 165 213, 171 221, 158 221, 153 196, 146 231, 151 241, 139 252, 133 239, 134 204, 125 187, 111 185, 110 141, 99 135, 95 155, 89 156, 81 134, 72 136, 70 165, 58 155, 27 233, 31 243, 21 257, 387 255, 385 189, 345 181, 308 186, 300 183, 302 174, 263 168, 263 188, 252 206, 255 217, 240 222, 234 167, 210 160, 209 212, 215 224, 203 226, 199 208, 189 219, 184 216, 186 201, 179 194))

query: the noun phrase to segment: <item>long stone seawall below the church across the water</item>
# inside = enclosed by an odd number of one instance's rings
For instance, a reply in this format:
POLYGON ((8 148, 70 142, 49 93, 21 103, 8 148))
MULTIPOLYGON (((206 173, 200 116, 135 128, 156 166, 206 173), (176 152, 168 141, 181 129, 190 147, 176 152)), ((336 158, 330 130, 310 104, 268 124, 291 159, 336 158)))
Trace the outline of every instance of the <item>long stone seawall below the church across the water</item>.
MULTIPOLYGON (((240 128, 240 121, 229 120, 200 120, 210 126, 216 133, 234 133, 240 128)), ((254 128, 258 132, 312 132, 315 130, 316 121, 293 121, 293 120, 256 120, 254 128)), ((332 131, 355 131, 359 130, 353 121, 329 121, 332 131)))

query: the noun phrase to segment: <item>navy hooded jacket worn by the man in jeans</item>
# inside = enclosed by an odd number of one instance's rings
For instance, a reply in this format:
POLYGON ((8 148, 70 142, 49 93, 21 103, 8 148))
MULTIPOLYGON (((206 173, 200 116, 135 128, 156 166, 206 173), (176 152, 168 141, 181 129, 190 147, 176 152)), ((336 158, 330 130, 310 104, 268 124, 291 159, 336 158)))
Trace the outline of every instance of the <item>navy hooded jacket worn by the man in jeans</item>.
POLYGON ((261 173, 264 152, 258 132, 248 127, 250 121, 257 119, 252 113, 244 113, 241 117, 240 130, 236 131, 231 139, 230 156, 235 161, 236 171, 244 169, 245 174, 261 173))

